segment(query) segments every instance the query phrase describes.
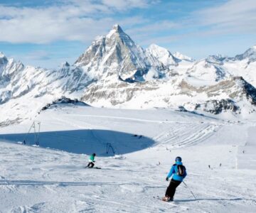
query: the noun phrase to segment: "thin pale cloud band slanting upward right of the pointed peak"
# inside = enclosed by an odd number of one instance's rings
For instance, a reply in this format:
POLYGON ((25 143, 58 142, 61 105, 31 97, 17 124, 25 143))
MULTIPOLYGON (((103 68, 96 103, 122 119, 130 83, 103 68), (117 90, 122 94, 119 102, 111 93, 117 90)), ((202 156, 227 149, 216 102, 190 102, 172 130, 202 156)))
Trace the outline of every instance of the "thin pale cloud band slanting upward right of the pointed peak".
POLYGON ((187 38, 198 40, 221 38, 223 35, 255 35, 255 23, 255 0, 229 0, 192 11, 178 20, 155 21, 140 28, 129 29, 129 32, 142 40, 143 45, 152 42, 164 44, 187 38))

